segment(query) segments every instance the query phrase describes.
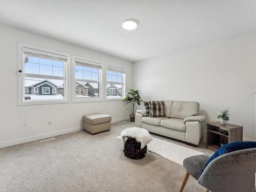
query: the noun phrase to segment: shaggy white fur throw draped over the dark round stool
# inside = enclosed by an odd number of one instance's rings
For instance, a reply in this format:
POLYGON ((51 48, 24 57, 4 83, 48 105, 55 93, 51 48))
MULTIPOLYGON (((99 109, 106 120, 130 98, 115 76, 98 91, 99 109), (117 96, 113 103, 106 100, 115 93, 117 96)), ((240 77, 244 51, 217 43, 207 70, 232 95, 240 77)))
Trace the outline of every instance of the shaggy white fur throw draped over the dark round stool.
POLYGON ((140 149, 144 148, 144 146, 146 146, 148 143, 150 143, 152 141, 152 136, 150 135, 150 133, 140 127, 131 127, 128 128, 126 130, 123 130, 121 132, 121 139, 124 141, 124 137, 133 137, 135 138, 138 142, 140 142, 140 149))

